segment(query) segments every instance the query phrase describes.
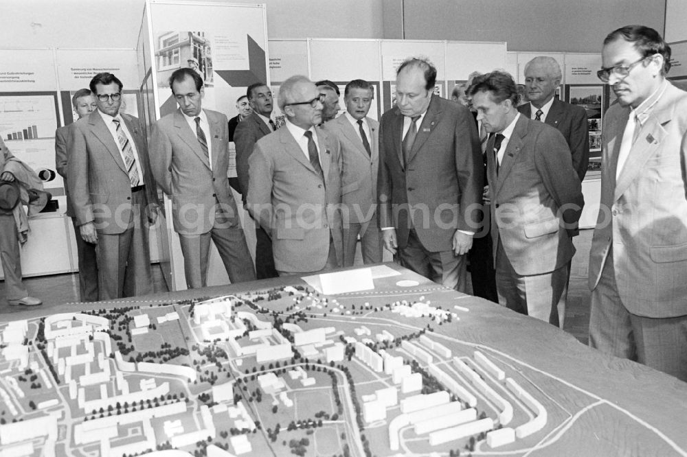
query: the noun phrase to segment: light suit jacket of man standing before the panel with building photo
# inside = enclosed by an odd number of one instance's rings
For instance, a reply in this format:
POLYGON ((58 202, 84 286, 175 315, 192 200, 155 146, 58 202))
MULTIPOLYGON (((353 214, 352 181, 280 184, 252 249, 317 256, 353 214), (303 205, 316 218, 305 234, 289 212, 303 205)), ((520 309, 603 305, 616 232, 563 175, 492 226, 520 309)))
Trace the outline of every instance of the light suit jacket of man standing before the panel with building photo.
POLYGON ((209 232, 214 224, 216 204, 220 204, 229 216, 229 225, 240 225, 227 178, 227 117, 216 111, 203 111, 210 125, 205 136, 210 139, 212 148, 212 169, 196 133, 179 109, 155 123, 150 139, 153 176, 172 199, 174 231, 181 235, 209 232))

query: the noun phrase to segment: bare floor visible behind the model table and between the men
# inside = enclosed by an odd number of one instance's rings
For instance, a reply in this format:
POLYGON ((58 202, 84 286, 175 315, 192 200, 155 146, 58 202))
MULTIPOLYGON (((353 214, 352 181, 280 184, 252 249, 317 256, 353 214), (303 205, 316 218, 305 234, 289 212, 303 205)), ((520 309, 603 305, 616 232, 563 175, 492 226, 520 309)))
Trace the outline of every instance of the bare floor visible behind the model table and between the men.
MULTIPOLYGON (((589 248, 592 244, 592 230, 583 230, 574 239, 577 253, 572 259, 570 290, 565 312, 565 331, 572 333, 578 340, 587 344, 589 338, 589 299, 587 288, 587 265, 589 248)), ((360 263, 362 263, 360 261, 360 263)), ((153 286, 155 292, 166 292, 167 286, 159 266, 153 266, 153 286)), ((52 276, 27 278, 24 280, 29 293, 43 300, 43 308, 61 303, 78 301, 78 274, 54 274, 52 276)), ((0 296, 5 296, 5 283, 0 281, 0 296)), ((22 307, 10 307, 0 301, 0 313, 20 312, 22 307)))

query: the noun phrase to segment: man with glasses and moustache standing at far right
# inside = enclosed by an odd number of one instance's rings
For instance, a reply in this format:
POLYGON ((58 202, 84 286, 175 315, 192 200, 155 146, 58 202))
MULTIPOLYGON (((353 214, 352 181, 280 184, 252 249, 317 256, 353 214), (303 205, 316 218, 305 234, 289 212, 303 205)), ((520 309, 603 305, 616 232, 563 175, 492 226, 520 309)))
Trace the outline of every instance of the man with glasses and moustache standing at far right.
POLYGON ((589 257, 589 345, 687 381, 687 93, 666 81, 655 30, 611 32, 598 77, 618 104, 602 129, 589 257))

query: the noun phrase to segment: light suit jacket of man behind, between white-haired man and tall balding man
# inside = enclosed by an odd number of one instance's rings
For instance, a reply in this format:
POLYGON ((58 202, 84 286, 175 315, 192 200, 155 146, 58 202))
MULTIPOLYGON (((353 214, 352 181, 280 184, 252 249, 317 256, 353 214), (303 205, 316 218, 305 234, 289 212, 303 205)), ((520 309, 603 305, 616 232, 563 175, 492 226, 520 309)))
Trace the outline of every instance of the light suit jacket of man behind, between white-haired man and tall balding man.
POLYGON ((368 222, 377 202, 377 172, 379 169, 379 122, 365 117, 370 126, 370 151, 363 146, 358 132, 346 115, 324 124, 341 143, 341 202, 348 210, 344 222, 368 222))

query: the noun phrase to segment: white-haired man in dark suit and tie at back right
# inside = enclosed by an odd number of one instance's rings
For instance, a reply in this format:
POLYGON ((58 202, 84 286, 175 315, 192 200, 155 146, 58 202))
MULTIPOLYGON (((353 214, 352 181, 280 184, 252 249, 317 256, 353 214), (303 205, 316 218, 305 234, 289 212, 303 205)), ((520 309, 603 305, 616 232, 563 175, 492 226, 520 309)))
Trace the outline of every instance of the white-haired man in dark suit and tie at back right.
POLYGON ((552 57, 538 56, 527 62, 525 86, 530 102, 517 109, 526 117, 543 121, 563 134, 572 154, 572 166, 582 182, 589 163, 587 111, 554 97, 561 78, 561 67, 552 57))

